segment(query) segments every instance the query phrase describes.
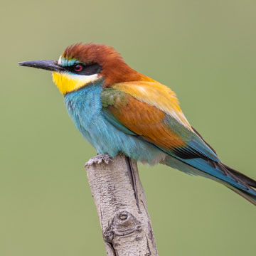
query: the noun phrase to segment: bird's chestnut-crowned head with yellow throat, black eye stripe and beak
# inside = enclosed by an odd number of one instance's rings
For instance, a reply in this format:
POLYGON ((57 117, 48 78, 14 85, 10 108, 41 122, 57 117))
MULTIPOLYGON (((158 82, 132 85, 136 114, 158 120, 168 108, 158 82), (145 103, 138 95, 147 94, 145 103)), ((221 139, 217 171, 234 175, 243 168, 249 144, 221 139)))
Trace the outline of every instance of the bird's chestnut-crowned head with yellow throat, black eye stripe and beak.
POLYGON ((151 80, 124 63, 114 48, 97 43, 68 46, 58 61, 35 60, 20 65, 53 71, 53 81, 64 95, 97 80, 103 81, 103 87, 119 82, 151 80))

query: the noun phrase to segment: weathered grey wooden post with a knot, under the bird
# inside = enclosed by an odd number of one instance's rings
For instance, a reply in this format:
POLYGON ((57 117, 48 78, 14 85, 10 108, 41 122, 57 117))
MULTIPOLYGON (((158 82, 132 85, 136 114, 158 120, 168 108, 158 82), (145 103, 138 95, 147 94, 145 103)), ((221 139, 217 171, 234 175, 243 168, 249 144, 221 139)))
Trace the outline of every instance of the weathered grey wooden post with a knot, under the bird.
POLYGON ((158 255, 137 163, 122 154, 100 154, 85 169, 107 255, 158 255))

